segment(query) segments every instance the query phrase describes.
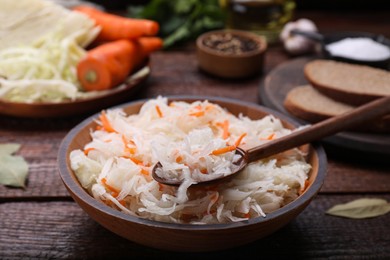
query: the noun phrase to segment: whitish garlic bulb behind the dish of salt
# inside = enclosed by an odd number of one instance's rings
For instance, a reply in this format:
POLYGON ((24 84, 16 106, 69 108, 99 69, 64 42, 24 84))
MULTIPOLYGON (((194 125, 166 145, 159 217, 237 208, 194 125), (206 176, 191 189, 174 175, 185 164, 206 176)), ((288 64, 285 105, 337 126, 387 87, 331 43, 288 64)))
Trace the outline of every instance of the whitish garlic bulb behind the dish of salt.
POLYGON ((280 33, 284 49, 293 55, 300 55, 312 52, 315 49, 315 42, 301 35, 291 34, 291 30, 317 32, 316 25, 309 19, 299 19, 295 22, 288 22, 280 33))

